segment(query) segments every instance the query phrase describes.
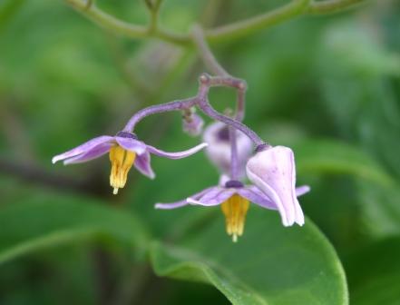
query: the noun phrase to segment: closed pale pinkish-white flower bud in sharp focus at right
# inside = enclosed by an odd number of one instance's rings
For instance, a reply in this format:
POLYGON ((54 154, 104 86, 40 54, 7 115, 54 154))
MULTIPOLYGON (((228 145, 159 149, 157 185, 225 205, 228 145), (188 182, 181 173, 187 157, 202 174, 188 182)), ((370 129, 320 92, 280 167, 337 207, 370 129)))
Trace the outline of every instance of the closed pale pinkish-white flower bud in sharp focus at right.
POLYGON ((275 146, 256 153, 246 166, 249 180, 268 195, 278 208, 282 222, 304 224, 304 214, 297 198, 295 158, 292 150, 275 146))

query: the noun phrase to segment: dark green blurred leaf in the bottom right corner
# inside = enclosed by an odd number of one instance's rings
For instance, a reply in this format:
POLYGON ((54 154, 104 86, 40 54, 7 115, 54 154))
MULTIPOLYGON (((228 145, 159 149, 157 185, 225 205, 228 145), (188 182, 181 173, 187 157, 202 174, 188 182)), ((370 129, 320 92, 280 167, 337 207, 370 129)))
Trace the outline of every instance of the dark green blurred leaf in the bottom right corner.
POLYGON ((376 241, 346 260, 352 304, 395 305, 400 300, 400 237, 376 241))

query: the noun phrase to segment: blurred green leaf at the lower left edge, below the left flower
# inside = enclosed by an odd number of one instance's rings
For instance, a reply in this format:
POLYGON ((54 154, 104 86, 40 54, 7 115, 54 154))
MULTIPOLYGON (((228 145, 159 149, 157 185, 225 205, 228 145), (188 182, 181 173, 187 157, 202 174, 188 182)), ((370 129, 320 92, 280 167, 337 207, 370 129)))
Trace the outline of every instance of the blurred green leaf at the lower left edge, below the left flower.
POLYGON ((44 247, 106 238, 143 251, 148 235, 132 214, 76 197, 45 195, 0 210, 0 262, 44 247))

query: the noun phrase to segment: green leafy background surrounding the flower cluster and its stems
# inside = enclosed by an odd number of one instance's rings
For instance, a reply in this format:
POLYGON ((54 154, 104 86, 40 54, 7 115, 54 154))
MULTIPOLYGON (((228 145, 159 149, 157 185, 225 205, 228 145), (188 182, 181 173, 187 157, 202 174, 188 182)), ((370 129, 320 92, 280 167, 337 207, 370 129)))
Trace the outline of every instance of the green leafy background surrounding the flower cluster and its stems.
MULTIPOLYGON (((284 3, 166 0, 161 23, 187 32, 284 3)), ((97 4, 148 19, 141 1, 97 4)), ((0 304, 346 304, 346 282, 351 304, 400 304, 399 15, 398 1, 376 0, 211 46, 249 84, 245 123, 293 147, 298 184, 312 188, 304 228, 252 206, 234 245, 218 208, 153 208, 218 182, 204 153, 153 157, 157 179, 132 170, 118 196, 106 156, 51 164, 142 107, 194 95, 206 71, 196 51, 108 33, 63 1, 1 1, 0 304)), ((220 111, 234 98, 210 94, 220 111)), ((200 141, 180 113, 137 133, 167 151, 200 141)))

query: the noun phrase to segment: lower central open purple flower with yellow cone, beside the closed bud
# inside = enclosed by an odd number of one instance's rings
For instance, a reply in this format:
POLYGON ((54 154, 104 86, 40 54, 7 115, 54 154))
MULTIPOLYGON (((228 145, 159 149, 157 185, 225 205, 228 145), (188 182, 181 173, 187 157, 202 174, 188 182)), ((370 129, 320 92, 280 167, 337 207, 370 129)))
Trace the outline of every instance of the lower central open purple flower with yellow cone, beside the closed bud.
MULTIPOLYGON (((301 196, 309 191, 307 185, 296 189, 296 195, 301 196)), ((232 241, 238 241, 243 234, 246 213, 249 202, 269 210, 278 210, 274 201, 255 185, 243 185, 239 181, 228 181, 223 186, 213 186, 198 192, 180 202, 157 203, 156 209, 176 209, 188 204, 206 207, 220 205, 226 220, 226 231, 232 236, 232 241)))

